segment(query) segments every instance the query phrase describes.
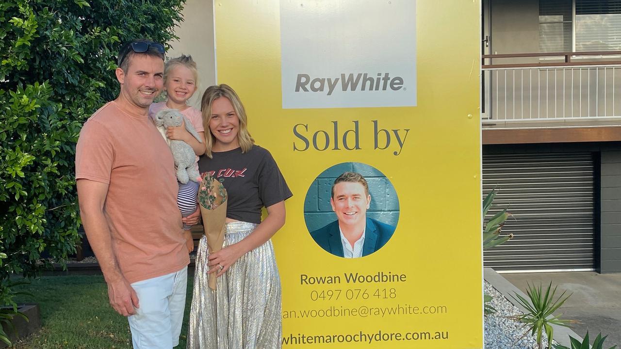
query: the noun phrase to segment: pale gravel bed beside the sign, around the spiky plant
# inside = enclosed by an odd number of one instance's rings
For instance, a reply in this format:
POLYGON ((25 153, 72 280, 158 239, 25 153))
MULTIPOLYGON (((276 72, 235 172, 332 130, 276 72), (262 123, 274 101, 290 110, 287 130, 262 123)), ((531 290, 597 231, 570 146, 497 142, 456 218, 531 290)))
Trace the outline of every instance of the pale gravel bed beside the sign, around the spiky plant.
MULTIPOLYGON (((505 318, 505 316, 522 314, 522 311, 509 302, 501 292, 496 291, 489 283, 485 283, 486 294, 494 297, 491 301, 492 307, 496 308, 496 313, 486 315, 484 319, 485 327, 485 348, 486 349, 537 349, 535 337, 530 332, 518 342, 525 330, 521 323, 505 318)), ((547 337, 543 333, 543 345, 545 347, 547 337)), ((553 343, 556 343, 553 341, 553 343)))

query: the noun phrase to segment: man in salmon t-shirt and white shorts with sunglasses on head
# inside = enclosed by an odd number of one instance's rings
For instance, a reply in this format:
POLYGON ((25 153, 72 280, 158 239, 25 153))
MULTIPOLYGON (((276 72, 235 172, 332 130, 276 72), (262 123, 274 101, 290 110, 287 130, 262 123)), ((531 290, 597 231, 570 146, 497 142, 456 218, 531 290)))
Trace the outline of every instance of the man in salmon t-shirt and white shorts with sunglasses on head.
POLYGON ((76 147, 80 216, 134 348, 178 344, 188 249, 170 149, 148 118, 163 88, 164 47, 135 40, 119 52, 119 97, 91 116, 76 147))

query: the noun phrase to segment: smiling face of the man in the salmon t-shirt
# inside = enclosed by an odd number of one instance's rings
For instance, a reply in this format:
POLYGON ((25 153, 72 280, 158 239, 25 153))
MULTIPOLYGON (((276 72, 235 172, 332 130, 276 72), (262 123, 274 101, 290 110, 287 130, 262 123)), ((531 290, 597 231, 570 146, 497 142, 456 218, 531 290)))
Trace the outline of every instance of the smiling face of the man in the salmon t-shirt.
POLYGON ((140 109, 148 108, 160 94, 164 81, 164 61, 159 57, 134 54, 127 71, 117 69, 121 94, 140 109))

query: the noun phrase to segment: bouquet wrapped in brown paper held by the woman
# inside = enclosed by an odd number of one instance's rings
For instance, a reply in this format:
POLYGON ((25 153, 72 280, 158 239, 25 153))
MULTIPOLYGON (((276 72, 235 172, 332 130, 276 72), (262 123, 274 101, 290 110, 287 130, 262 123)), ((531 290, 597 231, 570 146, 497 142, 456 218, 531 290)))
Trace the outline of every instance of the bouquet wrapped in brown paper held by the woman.
MULTIPOLYGON (((206 174, 198 190, 202 226, 205 230, 209 253, 222 250, 225 220, 227 218, 227 189, 210 174, 206 174)), ((209 274, 209 288, 215 289, 215 273, 209 274)))

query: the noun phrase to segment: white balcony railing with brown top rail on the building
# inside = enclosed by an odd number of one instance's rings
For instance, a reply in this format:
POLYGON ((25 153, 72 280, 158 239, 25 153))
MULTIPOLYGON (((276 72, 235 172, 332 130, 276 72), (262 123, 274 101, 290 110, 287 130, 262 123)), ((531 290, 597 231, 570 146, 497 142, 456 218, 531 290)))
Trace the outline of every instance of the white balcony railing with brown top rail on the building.
POLYGON ((484 120, 621 118, 621 51, 482 58, 484 120), (511 63, 498 64, 507 60, 511 63))

